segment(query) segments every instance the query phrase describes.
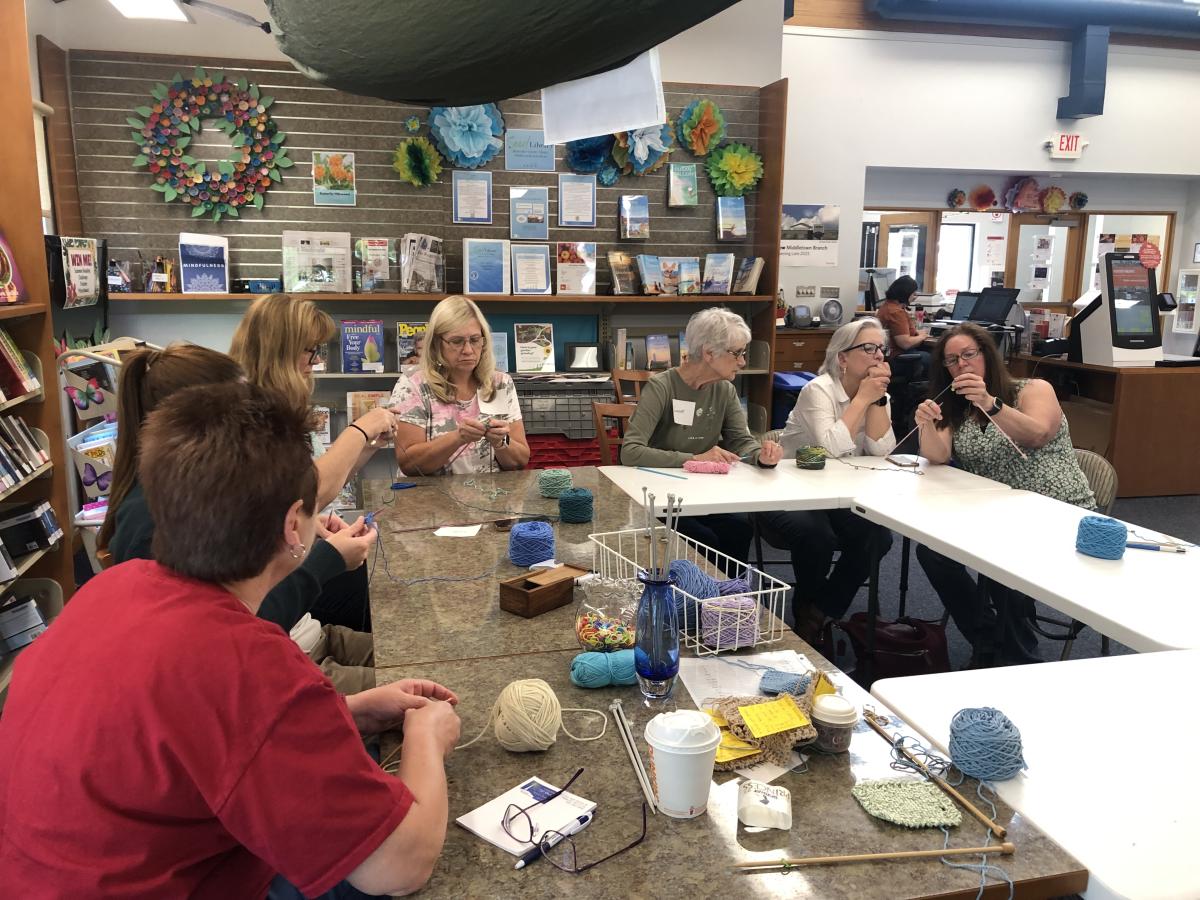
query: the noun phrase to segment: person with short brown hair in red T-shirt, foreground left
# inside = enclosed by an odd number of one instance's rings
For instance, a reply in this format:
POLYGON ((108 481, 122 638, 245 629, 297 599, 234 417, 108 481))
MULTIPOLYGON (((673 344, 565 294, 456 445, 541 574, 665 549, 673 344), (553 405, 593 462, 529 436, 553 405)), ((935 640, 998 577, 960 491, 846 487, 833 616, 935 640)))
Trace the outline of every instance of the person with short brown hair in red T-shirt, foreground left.
POLYGON ((6 896, 407 894, 445 840, 457 697, 340 696, 256 617, 317 530, 307 413, 187 388, 142 432, 155 560, 91 578, 16 661, 0 719, 6 896), (398 778, 362 734, 403 724, 398 778), (278 876, 276 876, 278 874, 278 876))

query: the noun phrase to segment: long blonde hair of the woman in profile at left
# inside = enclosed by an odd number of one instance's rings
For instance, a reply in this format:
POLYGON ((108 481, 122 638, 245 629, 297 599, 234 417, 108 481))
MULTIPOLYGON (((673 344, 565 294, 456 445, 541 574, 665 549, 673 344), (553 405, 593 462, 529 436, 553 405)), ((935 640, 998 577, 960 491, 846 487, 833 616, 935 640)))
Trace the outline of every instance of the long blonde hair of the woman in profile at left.
POLYGON ((250 305, 238 323, 229 355, 251 384, 274 388, 298 409, 312 402, 312 376, 304 376, 296 358, 337 334, 334 319, 311 300, 269 294, 250 305))

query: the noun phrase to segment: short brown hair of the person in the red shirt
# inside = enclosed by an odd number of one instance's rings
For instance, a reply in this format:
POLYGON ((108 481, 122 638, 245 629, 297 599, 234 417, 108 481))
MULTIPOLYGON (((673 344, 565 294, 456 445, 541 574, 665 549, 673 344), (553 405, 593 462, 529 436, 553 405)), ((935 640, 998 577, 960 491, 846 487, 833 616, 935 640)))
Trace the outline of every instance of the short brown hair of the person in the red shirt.
POLYGON ((154 518, 154 558, 227 583, 259 575, 280 551, 296 500, 317 505, 305 412, 235 382, 187 388, 146 418, 138 476, 154 518))

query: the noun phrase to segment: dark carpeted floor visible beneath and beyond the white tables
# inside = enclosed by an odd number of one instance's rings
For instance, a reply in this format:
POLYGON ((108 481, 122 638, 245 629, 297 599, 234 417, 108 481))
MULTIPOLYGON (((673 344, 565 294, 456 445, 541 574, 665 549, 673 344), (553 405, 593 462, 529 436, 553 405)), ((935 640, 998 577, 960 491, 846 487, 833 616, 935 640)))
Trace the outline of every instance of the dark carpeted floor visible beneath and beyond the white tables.
MULTIPOLYGON (((1117 500, 1112 515, 1134 526, 1174 535, 1192 544, 1200 544, 1200 496, 1187 497, 1142 497, 1117 500)), ((882 614, 894 618, 900 601, 900 556, 904 542, 895 540, 890 552, 883 558, 880 566, 880 607, 882 614)), ((1036 552, 1034 547, 1030 552, 1036 552)), ((1129 551, 1144 552, 1144 551, 1129 551)), ((1200 551, 1195 551, 1200 552, 1200 551)), ((764 568, 769 575, 792 582, 792 566, 786 553, 763 545, 764 568)), ((1130 598, 1133 600, 1133 598, 1130 598)), ((854 604, 850 612, 866 611, 866 588, 862 588, 854 598, 854 604)), ((908 616, 923 619, 940 619, 942 617, 942 602, 932 587, 925 578, 920 565, 917 563, 916 553, 910 558, 908 564, 908 593, 906 600, 906 612, 908 616)), ((790 616, 788 611, 788 616, 790 616)), ((1051 616, 1062 619, 1060 613, 1038 604, 1039 616, 1051 616)), ((1060 629, 1054 629, 1060 630, 1060 629)), ((947 641, 950 650, 950 666, 961 668, 971 658, 971 647, 959 634, 954 624, 947 626, 947 641)), ((1128 647, 1111 642, 1111 653, 1132 653, 1128 647)), ((1042 638, 1038 646, 1038 654, 1043 660, 1056 660, 1062 653, 1062 643, 1042 638)), ((1082 659, 1100 655, 1100 636, 1091 629, 1085 629, 1075 641, 1070 659, 1082 659)))

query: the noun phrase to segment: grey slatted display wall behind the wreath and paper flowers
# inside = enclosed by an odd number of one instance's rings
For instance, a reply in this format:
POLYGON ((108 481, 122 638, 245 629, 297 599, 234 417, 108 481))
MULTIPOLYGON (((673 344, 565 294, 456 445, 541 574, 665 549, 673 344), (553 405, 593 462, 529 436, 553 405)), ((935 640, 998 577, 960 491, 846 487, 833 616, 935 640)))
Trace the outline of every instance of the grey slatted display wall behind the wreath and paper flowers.
MULTIPOLYGON (((611 293, 606 252, 619 247, 630 253, 697 256, 733 252, 738 259, 752 251, 755 194, 746 197, 750 234, 745 241, 716 241, 715 198, 703 172, 703 161, 685 149, 676 149, 676 162, 697 162, 700 205, 670 209, 666 205, 667 169, 644 178, 622 178, 614 187, 599 187, 595 229, 557 228, 557 174, 504 170, 504 154, 486 168, 493 172, 493 224, 457 226, 450 218, 450 170, 442 181, 416 188, 391 170, 391 155, 406 132, 403 120, 418 114, 426 119, 426 107, 401 106, 368 97, 356 97, 308 80, 282 62, 230 61, 209 56, 133 55, 94 50, 70 53, 70 82, 79 194, 84 233, 108 240, 116 259, 148 259, 178 256, 180 232, 221 234, 229 238, 230 277, 277 277, 281 265, 281 232, 288 229, 349 232, 352 238, 398 239, 406 232, 422 232, 445 239, 446 281, 450 290, 462 288, 462 239, 509 238, 509 186, 551 187, 550 242, 594 240, 598 244, 598 293, 611 293), (175 72, 187 76, 194 66, 224 71, 257 83, 264 95, 275 97, 271 113, 295 166, 283 182, 268 192, 259 210, 244 210, 240 218, 214 223, 208 217, 191 217, 181 203, 164 203, 150 190, 145 169, 131 167, 136 145, 125 119, 138 106, 151 103, 150 90, 175 72), (358 168, 358 206, 314 206, 311 166, 313 150, 353 151, 358 168), (644 193, 650 202, 650 240, 618 240, 617 209, 622 194, 644 193)), ((667 113, 672 119, 696 97, 710 97, 722 109, 728 138, 756 144, 758 96, 755 88, 727 85, 667 84, 667 113)), ((505 127, 541 127, 541 101, 532 94, 502 102, 505 127)), ((422 128, 422 134, 427 130, 422 128)), ((678 148, 678 144, 677 144, 678 148)), ((228 155, 226 138, 215 128, 194 137, 188 152, 216 161, 228 155)), ((566 172, 563 149, 557 149, 558 170, 566 172)), ((553 246, 552 246, 553 250, 553 246)), ((398 272, 394 269, 394 275, 398 272)), ((398 290, 397 281, 383 286, 398 290)))

